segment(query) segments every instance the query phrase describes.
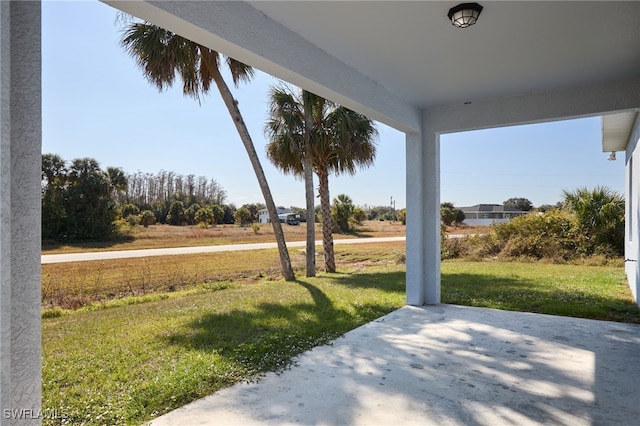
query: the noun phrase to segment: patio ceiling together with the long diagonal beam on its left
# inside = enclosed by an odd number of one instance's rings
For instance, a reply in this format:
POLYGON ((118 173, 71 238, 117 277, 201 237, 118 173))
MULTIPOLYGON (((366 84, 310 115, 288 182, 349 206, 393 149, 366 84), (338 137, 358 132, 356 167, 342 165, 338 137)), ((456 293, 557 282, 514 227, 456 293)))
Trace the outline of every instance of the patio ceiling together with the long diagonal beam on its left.
POLYGON ((640 81, 640 2, 482 1, 466 29, 455 1, 106 3, 404 131, 425 109, 640 81))

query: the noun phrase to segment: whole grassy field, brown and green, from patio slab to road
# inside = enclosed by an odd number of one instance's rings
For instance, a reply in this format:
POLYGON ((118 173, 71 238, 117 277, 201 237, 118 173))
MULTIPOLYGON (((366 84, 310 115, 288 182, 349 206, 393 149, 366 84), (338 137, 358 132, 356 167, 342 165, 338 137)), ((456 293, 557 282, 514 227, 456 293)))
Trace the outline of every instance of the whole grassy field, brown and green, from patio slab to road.
MULTIPOLYGON (((296 282, 277 258, 42 265, 43 408, 63 416, 44 423, 140 424, 404 305, 404 243, 336 246, 339 273, 309 279, 295 251, 296 282)), ((447 261, 442 301, 640 323, 620 267, 447 261)))

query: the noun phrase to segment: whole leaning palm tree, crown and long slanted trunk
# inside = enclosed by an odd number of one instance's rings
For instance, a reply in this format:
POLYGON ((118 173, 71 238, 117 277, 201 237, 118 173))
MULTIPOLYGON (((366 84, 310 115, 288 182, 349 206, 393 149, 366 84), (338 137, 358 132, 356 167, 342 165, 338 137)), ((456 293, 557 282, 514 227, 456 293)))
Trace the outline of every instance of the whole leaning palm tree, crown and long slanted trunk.
POLYGON ((278 211, 264 170, 238 109, 238 103, 220 73, 221 61, 224 60, 231 72, 233 83, 238 86, 240 82, 251 80, 254 74, 253 68, 232 58, 225 60, 215 50, 146 22, 128 23, 124 29, 121 44, 140 66, 147 80, 159 90, 172 86, 176 75, 179 75, 182 79, 183 93, 200 99, 201 95, 209 92, 211 83, 215 83, 249 155, 269 216, 272 218, 271 223, 280 252, 282 275, 287 281, 295 280, 282 225, 277 220, 278 211))

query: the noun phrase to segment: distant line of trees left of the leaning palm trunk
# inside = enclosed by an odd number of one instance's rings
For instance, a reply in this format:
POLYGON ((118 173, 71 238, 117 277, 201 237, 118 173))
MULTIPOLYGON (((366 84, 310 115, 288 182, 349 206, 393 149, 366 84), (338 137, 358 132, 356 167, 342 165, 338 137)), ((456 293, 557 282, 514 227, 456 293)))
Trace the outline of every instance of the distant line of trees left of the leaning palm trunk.
POLYGON ((59 155, 42 156, 42 238, 54 241, 105 241, 118 238, 118 220, 129 225, 154 223, 206 225, 258 220, 263 204, 240 209, 227 204, 226 191, 204 176, 171 171, 126 174, 102 169, 92 158, 67 163, 59 155), (238 210, 241 210, 238 214, 238 210))

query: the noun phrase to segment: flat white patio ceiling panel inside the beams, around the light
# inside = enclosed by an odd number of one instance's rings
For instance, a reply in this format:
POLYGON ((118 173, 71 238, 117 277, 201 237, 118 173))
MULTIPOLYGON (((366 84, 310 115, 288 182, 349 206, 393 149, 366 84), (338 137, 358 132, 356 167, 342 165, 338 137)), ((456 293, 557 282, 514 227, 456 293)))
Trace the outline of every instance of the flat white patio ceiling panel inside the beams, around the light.
POLYGON ((638 2, 485 1, 467 29, 455 1, 250 3, 419 108, 640 73, 638 2))

